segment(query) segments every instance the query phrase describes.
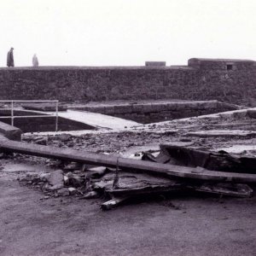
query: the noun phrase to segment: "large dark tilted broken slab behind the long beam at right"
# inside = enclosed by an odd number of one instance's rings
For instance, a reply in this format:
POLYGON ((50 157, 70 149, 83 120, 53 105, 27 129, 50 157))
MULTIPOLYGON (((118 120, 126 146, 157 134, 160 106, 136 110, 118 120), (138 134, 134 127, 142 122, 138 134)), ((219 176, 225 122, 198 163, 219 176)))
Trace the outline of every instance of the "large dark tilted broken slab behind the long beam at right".
MULTIPOLYGON (((224 150, 180 146, 176 143, 160 144, 160 154, 143 154, 143 160, 176 166, 202 167, 218 172, 256 174, 256 157, 251 154, 229 154, 224 150)), ((194 171, 195 172, 195 171, 194 171)))

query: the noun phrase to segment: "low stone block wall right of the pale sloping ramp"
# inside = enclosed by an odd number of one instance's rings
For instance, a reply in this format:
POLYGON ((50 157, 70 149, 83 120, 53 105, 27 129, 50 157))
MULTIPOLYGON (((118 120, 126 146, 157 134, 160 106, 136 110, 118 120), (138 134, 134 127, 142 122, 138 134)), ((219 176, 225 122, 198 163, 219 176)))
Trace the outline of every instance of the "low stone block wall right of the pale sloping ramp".
POLYGON ((208 113, 236 110, 237 107, 218 101, 200 101, 135 103, 119 104, 114 106, 84 106, 73 109, 108 114, 147 124, 170 119, 193 117, 208 113))

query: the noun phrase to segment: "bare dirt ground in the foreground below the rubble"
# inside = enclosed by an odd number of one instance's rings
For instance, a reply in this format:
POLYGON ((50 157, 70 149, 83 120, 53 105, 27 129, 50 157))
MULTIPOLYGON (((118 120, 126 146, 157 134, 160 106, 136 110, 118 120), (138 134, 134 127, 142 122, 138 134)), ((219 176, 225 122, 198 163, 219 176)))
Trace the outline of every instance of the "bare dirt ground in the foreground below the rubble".
POLYGON ((109 212, 0 179, 1 255, 255 255, 256 197, 178 195, 109 212))

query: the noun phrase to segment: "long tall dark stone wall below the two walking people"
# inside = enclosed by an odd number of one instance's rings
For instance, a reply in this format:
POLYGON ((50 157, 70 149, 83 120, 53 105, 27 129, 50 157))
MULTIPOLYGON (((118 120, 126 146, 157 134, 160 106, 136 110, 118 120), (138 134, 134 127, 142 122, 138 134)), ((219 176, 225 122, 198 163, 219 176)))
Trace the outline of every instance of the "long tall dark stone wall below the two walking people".
POLYGON ((0 68, 0 99, 218 100, 252 105, 254 61, 190 59, 184 67, 0 68))

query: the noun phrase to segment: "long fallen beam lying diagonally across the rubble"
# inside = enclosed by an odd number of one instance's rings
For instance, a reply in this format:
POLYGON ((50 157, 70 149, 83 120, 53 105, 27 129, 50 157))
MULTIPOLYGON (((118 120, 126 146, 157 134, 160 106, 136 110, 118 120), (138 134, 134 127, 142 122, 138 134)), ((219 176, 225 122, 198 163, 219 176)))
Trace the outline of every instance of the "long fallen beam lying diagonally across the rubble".
POLYGON ((107 154, 96 154, 70 148, 55 148, 31 143, 20 143, 8 139, 0 140, 2 152, 30 154, 58 160, 69 160, 95 166, 116 167, 126 172, 146 172, 166 177, 186 177, 201 180, 256 183, 256 174, 237 172, 215 172, 203 168, 173 166, 143 160, 132 160, 107 154))

